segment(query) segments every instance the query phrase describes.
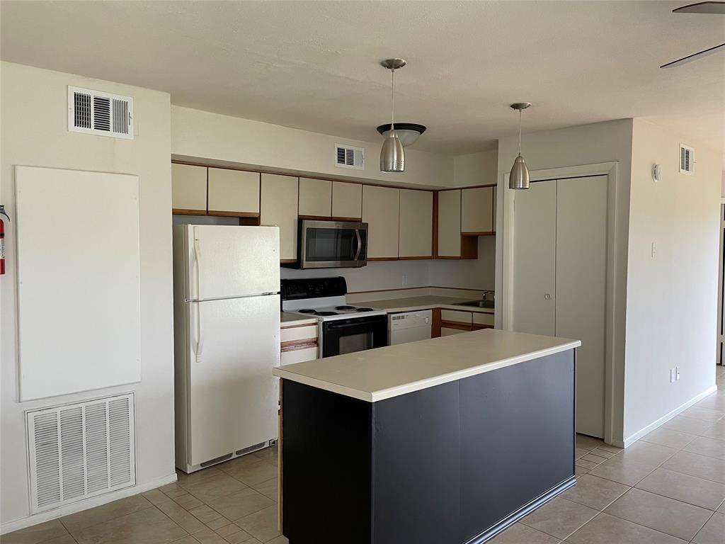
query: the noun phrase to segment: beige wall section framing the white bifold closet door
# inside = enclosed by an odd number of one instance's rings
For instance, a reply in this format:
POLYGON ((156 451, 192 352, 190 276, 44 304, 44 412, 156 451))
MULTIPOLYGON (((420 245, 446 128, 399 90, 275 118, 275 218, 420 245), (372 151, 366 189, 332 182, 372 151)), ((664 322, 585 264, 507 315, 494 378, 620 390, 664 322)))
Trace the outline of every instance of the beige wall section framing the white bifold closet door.
MULTIPOLYGON (((617 162, 618 191, 616 194, 617 218, 615 225, 615 254, 610 256, 614 267, 616 295, 615 346, 613 368, 612 434, 616 441, 624 440, 624 334, 627 281, 627 234, 629 231, 629 173, 631 170, 632 120, 621 119, 541 131, 523 135, 522 154, 529 170, 545 170, 567 166, 591 165, 601 162, 617 162)), ((498 148, 498 207, 496 240, 496 291, 502 292, 502 252, 505 231, 504 198, 510 191, 503 183, 513 160, 518 154, 518 136, 499 140, 498 148)), ((500 307, 505 308, 503 304, 500 307)))

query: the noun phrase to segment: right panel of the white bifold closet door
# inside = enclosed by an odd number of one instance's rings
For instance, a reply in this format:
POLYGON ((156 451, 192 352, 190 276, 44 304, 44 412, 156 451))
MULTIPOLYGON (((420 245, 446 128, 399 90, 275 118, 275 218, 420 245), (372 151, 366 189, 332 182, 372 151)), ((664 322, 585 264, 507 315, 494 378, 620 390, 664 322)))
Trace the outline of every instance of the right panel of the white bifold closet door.
POLYGON ((556 336, 581 340, 576 432, 603 437, 607 176, 558 180, 556 248, 556 336))

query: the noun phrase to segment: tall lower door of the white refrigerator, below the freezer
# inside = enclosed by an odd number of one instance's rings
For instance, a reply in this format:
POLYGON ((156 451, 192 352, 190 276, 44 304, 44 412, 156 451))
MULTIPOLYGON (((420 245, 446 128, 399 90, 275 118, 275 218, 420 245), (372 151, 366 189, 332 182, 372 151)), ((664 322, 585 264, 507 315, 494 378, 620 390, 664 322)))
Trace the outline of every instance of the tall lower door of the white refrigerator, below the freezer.
POLYGON ((279 295, 188 302, 188 463, 277 436, 279 295))

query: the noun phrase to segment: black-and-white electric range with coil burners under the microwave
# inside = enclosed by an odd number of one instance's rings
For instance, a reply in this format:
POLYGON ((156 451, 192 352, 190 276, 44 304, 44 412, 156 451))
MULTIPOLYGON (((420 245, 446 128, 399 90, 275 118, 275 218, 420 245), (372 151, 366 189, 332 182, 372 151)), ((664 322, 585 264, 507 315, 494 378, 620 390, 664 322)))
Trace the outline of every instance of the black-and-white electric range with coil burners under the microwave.
POLYGON ((386 311, 347 304, 345 294, 341 276, 281 280, 282 310, 317 318, 320 357, 387 345, 386 311))

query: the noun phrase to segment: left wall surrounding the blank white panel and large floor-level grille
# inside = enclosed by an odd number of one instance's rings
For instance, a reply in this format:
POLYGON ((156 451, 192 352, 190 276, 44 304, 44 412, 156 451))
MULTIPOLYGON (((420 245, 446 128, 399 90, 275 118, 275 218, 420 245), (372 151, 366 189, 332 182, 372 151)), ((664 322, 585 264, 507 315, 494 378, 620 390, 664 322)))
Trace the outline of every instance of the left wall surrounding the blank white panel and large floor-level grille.
MULTIPOLYGON (((14 218, 14 165, 135 174, 140 178, 142 381, 122 387, 19 403, 15 338, 14 222, 7 226, 7 275, 0 280, 1 435, 0 518, 29 515, 24 411, 120 392, 136 394, 136 480, 155 487, 175 477, 171 297, 171 191, 169 95, 76 75, 2 62, 0 65, 0 199, 14 218), (67 131, 67 86, 130 95, 136 139, 67 131)), ((79 195, 80 197, 80 195, 79 195)), ((72 214, 73 210, 67 210, 72 214)), ((63 226, 48 243, 63 241, 63 226)), ((69 248, 69 257, 72 251, 69 248)), ((58 263, 62 267, 62 263, 58 263)), ((48 271, 53 273, 53 271, 48 271)), ((72 304, 72 300, 68 304, 72 304)), ((57 364, 72 353, 57 353, 57 364)), ((33 520, 27 520, 30 524, 33 520)), ((25 522, 20 522, 25 523, 25 522)))

